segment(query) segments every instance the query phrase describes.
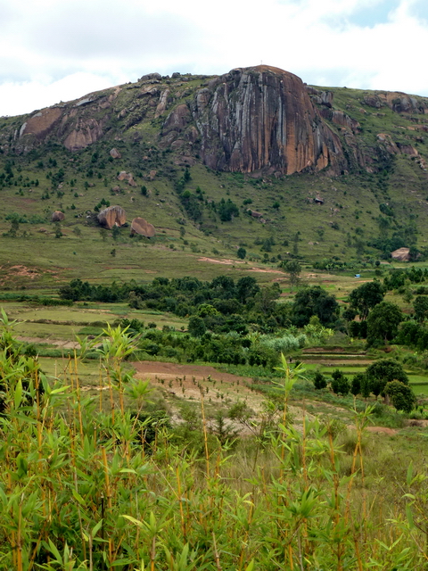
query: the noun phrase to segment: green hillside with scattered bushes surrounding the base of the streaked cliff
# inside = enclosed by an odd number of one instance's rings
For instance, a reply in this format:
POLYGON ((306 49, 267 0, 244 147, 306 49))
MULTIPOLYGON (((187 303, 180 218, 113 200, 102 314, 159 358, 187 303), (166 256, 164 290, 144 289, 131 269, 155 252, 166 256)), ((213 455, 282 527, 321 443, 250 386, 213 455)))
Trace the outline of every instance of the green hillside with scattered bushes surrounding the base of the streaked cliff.
MULTIPOLYGON (((202 76, 188 79, 178 103, 191 102, 194 90, 206 83, 202 76)), ((124 88, 115 101, 119 115, 136 101, 134 87, 139 85, 124 88)), ((3 151, 7 149, 0 154, 0 264, 4 269, 16 264, 37 269, 27 281, 45 286, 70 277, 215 275, 213 266, 220 264, 200 261, 203 257, 232 260, 230 269, 254 264, 276 268, 282 260, 299 257, 310 265, 346 261, 358 270, 361 264, 388 258, 401 246, 414 246, 424 254, 424 114, 396 112, 387 105, 376 110, 364 103, 374 92, 329 91, 333 112, 346 113, 360 125, 350 134, 348 128, 326 120, 348 153, 350 170, 338 176, 328 168, 281 177, 213 171, 198 158, 197 144, 191 166, 185 167, 184 160, 179 164, 180 151, 162 142, 168 113, 154 118, 153 111, 144 110, 137 117, 138 107, 127 111, 123 124, 110 118, 105 135, 78 151, 67 150, 54 138, 32 145, 28 152, 12 142, 3 145, 3 151), (390 137, 394 153, 379 147, 379 134, 390 137), (120 158, 111 157, 113 147, 120 158), (373 151, 373 165, 358 166, 352 149, 366 156, 373 151), (120 171, 132 173, 136 186, 119 181, 120 171), (118 204, 127 214, 127 225, 114 236, 96 221, 96 207, 102 209, 106 203, 118 204), (53 211, 65 214, 60 224, 51 222, 53 211), (251 216, 251 211, 259 214, 251 216), (154 225, 155 238, 129 236, 136 216, 154 225), (246 252, 243 261, 236 255, 240 247, 246 252)), ((93 100, 105 93, 95 95, 93 100)), ((324 114, 330 112, 318 107, 324 114)), ((102 120, 103 110, 97 113, 102 120)), ((25 119, 0 120, 0 140, 9 133, 12 141, 13 129, 25 119)), ((4 286, 12 274, 3 277, 4 286)))

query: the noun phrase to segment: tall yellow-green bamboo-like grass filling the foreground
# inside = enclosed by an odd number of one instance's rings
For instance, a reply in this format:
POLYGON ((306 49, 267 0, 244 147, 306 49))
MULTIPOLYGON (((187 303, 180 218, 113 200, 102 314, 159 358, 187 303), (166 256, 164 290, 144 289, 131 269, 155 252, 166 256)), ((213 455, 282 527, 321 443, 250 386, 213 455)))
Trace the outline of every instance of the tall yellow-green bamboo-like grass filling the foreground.
POLYGON ((426 470, 389 482, 395 500, 380 502, 386 484, 367 484, 363 456, 370 410, 356 413, 348 455, 328 424, 304 418, 298 430, 287 418, 295 369, 283 360, 283 415, 263 447, 209 438, 203 400, 201 453, 162 427, 149 443, 138 417, 149 386, 121 369, 132 340, 107 333, 108 410, 80 391, 77 358, 48 382, 4 324, 0 568, 424 568, 426 470))

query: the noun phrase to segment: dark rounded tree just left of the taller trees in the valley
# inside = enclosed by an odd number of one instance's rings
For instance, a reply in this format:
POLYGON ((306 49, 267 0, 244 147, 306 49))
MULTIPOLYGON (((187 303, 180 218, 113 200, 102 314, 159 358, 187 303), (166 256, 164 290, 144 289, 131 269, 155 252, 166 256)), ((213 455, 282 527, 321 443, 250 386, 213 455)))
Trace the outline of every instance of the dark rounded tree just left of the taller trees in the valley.
POLYGON ((329 295, 319 285, 305 287, 294 298, 292 305, 292 323, 303 327, 313 315, 317 315, 322 325, 328 327, 337 318, 339 305, 334 295, 329 295))

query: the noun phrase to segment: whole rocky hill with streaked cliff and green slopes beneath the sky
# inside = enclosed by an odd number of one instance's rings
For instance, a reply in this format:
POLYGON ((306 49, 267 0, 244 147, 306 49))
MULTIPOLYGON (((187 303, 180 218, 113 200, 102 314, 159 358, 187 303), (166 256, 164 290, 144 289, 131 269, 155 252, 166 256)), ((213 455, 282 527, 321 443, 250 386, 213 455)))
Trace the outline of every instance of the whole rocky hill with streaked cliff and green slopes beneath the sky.
MULTIPOLYGON (((156 228, 148 248, 163 241, 184 257, 234 258, 239 247, 246 261, 270 264, 358 265, 399 247, 424 255, 427 112, 424 97, 311 87, 263 65, 215 77, 152 73, 3 117, 0 261, 21 261, 38 244, 33 263, 57 264, 54 236, 71 255, 96 251, 106 203, 156 228), (53 211, 65 215, 63 236, 53 211), (13 236, 32 240, 20 248, 13 236)), ((128 234, 115 236, 119 255, 136 244, 128 234)))

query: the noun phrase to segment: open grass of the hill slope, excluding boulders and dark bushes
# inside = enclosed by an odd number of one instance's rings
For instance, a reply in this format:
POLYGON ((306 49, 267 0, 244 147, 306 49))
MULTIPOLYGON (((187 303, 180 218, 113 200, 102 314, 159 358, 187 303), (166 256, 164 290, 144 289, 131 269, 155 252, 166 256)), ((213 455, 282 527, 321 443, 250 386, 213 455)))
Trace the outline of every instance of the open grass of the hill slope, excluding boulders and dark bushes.
MULTIPOLYGON (((201 85, 201 79, 189 81, 185 89, 180 88, 177 103, 192 99, 192 89, 201 85)), ((394 141, 414 145, 421 156, 428 157, 427 143, 415 139, 424 133, 412 130, 416 121, 424 122, 424 116, 398 114, 386 107, 378 112, 363 106, 361 100, 367 93, 333 88, 334 109, 349 113, 362 126, 362 133, 357 136, 359 145, 370 148, 376 144, 376 135, 386 132, 394 141)), ((123 89, 115 102, 116 107, 128 108, 135 101, 135 94, 135 89, 123 89)), ((236 260, 236 249, 243 245, 247 250, 247 261, 253 266, 254 262, 263 259, 264 253, 260 252, 260 244, 254 244, 256 238, 261 241, 269 236, 275 239, 275 245, 268 252, 268 258, 277 254, 286 257, 287 252, 295 250, 297 232, 300 232, 298 252, 309 261, 332 256, 357 261, 361 259, 361 252, 357 253, 356 239, 366 243, 379 234, 377 218, 381 203, 388 203, 395 212, 390 233, 416 223, 418 246, 425 244, 424 235, 428 229, 427 174, 406 154, 396 156, 386 177, 364 171, 336 178, 319 173, 257 179, 239 173, 215 173, 196 163, 191 170, 192 180, 186 188, 195 191, 199 186, 205 201, 218 203, 222 198, 230 198, 240 207, 240 216, 231 222, 221 222, 205 206, 202 223, 194 224, 183 210, 174 189, 174 182, 184 170, 175 164, 179 156, 157 146, 157 134, 163 118, 152 119, 152 115, 153 111, 148 112, 145 120, 125 131, 117 118, 111 119, 111 133, 116 136, 119 133, 120 140, 106 138, 78 153, 70 153, 59 145, 46 145, 21 157, 0 155, 0 172, 6 161, 14 162, 13 183, 16 183, 16 186, 6 186, 0 191, 4 204, 0 233, 10 228, 10 222, 4 217, 11 212, 18 212, 21 216, 25 214, 28 219, 35 215, 38 217, 35 224, 21 224, 18 238, 0 239, 0 265, 4 269, 16 263, 43 269, 44 276, 35 277, 30 282, 40 287, 70 277, 109 281, 113 277, 150 279, 154 273, 169 277, 192 273, 209 278, 225 269, 241 275, 241 269, 248 269, 244 264, 240 267, 235 264, 234 269, 203 263, 198 259, 202 254, 236 260), (121 159, 109 161, 112 146, 119 149, 121 159), (94 158, 95 152, 98 153, 97 158, 94 158), (49 159, 56 161, 55 167, 52 162, 49 164, 49 159), (39 166, 40 161, 43 161, 43 167, 39 166), (47 177, 60 169, 65 173, 62 188, 53 188, 47 177), (119 183, 119 170, 131 171, 137 186, 133 188, 119 183), (152 170, 157 174, 150 180, 152 170), (36 178, 39 185, 30 184, 36 178), (141 194, 143 185, 147 187, 149 196, 141 194), (111 195, 113 186, 120 186, 122 194, 111 195), (49 198, 42 200, 46 191, 49 191, 49 198), (323 205, 311 202, 317 195, 324 199, 323 205), (152 222, 158 233, 155 244, 129 239, 127 228, 121 230, 118 243, 113 242, 111 234, 105 237, 104 242, 99 228, 89 226, 86 219, 86 211, 93 211, 102 198, 122 206, 127 211, 128 220, 143 216, 152 222), (251 203, 244 205, 244 200, 251 203), (279 209, 273 207, 276 201, 280 204, 279 209), (248 208, 262 212, 266 224, 251 219, 246 214, 248 208), (55 228, 49 221, 57 209, 66 215, 62 224, 64 236, 60 239, 54 238, 55 228), (182 227, 178 220, 183 218, 186 219, 183 227, 185 236, 180 238, 182 227), (332 224, 338 229, 332 228, 332 224), (40 233, 40 228, 45 228, 47 234, 40 233), (81 232, 80 237, 73 233, 76 228, 81 232), (29 234, 27 238, 21 237, 24 230, 29 234), (111 255, 113 249, 116 250, 115 257, 111 255)), ((13 122, 15 127, 20 124, 19 118, 10 118, 3 120, 3 126, 13 122)), ((342 137, 341 128, 333 123, 331 127, 342 137)), ((365 245, 363 258, 375 259, 378 255, 379 252, 365 245)), ((271 279, 274 276, 259 274, 257 277, 271 279)), ((6 286, 15 287, 22 282, 19 278, 6 278, 3 278, 6 286)), ((29 285, 29 280, 23 281, 29 285)))

